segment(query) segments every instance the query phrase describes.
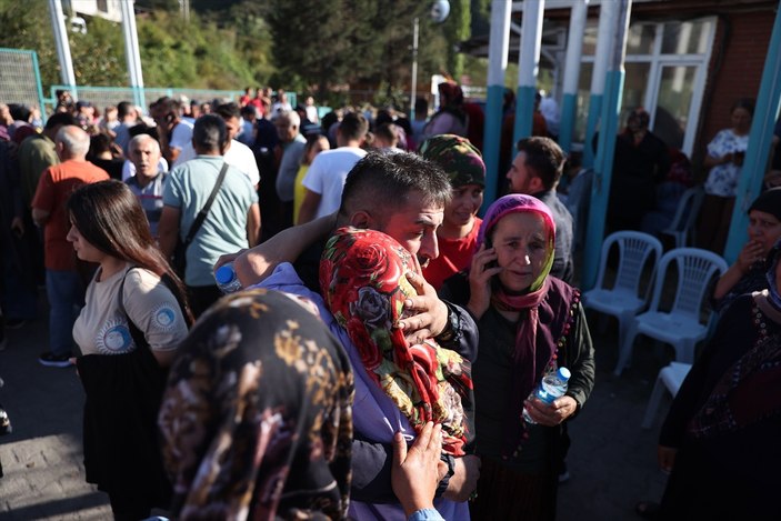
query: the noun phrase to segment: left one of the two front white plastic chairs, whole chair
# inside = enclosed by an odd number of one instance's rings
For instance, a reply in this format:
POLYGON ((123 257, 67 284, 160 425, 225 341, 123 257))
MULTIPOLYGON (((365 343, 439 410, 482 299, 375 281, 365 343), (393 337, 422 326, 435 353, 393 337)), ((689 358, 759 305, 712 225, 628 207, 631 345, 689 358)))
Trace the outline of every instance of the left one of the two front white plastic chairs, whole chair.
POLYGON ((632 318, 648 304, 648 291, 640 294, 640 279, 648 262, 651 271, 662 257, 662 243, 653 236, 639 231, 617 231, 604 239, 600 254, 599 274, 594 289, 583 293, 583 305, 613 315, 619 321, 621 345, 632 318), (604 287, 604 271, 611 248, 618 246, 619 265, 615 283, 604 287))

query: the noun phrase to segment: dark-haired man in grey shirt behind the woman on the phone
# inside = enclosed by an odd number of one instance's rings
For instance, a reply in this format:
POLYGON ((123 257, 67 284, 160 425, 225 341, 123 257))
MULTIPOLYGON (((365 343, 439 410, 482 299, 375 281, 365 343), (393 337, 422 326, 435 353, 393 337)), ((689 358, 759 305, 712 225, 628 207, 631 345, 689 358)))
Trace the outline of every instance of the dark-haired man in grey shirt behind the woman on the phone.
POLYGON ((572 282, 572 214, 559 200, 555 187, 564 170, 564 152, 550 138, 525 138, 515 146, 518 154, 507 172, 510 193, 525 193, 544 202, 555 224, 555 253, 550 274, 572 282))

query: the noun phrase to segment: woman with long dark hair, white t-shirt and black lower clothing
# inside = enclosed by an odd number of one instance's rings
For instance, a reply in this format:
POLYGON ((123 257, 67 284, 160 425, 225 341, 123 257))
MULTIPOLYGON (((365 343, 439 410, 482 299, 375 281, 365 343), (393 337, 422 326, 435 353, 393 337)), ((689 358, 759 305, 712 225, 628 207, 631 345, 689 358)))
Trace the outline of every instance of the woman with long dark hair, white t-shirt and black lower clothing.
POLYGON ((73 327, 86 391, 87 481, 109 494, 116 519, 143 519, 169 501, 156 419, 191 315, 127 184, 84 184, 67 211, 77 257, 99 264, 73 327))

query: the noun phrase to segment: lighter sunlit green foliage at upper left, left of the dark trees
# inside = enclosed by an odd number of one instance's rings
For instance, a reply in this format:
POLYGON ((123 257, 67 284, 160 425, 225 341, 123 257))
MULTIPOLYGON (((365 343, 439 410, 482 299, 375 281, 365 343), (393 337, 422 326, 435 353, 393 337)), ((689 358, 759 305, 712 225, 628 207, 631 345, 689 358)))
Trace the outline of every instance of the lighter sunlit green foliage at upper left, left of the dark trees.
MULTIPOLYGON (((146 3, 158 8, 136 22, 146 86, 238 89, 263 84, 273 72, 268 27, 258 16, 218 27, 191 12, 187 23, 176 0, 146 3)), ((0 0, 0 47, 37 51, 47 93, 62 82, 50 20, 46 0, 0 0)), ((121 24, 88 17, 87 34, 68 38, 79 84, 128 84, 121 24)))

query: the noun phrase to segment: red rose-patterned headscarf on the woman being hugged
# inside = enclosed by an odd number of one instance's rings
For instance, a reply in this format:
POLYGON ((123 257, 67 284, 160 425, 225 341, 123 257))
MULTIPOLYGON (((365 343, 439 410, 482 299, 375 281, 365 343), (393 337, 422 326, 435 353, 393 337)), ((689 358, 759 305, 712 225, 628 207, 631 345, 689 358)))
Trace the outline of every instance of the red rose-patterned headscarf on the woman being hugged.
POLYGON ((410 345, 395 323, 404 301, 417 292, 407 280, 412 256, 392 238, 373 230, 341 228, 320 261, 326 304, 356 344, 368 374, 410 424, 442 423, 443 450, 463 455, 473 402, 469 362, 432 339, 410 345))

